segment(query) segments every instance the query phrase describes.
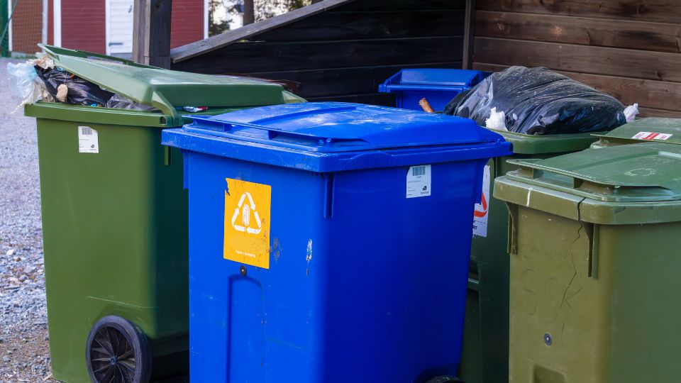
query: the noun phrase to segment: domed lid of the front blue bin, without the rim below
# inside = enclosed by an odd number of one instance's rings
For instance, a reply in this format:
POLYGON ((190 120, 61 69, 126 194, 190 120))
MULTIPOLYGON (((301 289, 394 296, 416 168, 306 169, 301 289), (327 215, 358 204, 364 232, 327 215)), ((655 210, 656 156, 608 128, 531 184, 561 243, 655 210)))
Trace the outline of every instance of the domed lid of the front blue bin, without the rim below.
POLYGON ((185 126, 187 131, 310 152, 485 140, 483 131, 468 118, 341 102, 274 105, 189 117, 194 123, 185 126))

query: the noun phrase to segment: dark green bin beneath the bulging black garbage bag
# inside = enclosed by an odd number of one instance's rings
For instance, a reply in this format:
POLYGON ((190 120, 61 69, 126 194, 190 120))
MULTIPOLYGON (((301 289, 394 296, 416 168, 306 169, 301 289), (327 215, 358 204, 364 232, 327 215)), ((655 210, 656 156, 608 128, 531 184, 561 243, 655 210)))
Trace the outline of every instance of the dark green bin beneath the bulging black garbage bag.
POLYGON ((482 199, 475 209, 463 357, 460 376, 467 383, 505 382, 509 360, 508 212, 492 198, 494 179, 516 169, 511 158, 546 158, 589 148, 591 133, 525 135, 497 132, 513 144, 514 155, 489 161, 482 199))

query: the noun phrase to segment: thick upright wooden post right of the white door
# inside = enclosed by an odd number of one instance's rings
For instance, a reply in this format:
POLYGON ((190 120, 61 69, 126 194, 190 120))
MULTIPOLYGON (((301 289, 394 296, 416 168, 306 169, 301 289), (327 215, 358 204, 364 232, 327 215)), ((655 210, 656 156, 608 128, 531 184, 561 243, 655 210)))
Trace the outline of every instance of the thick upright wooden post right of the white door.
POLYGON ((135 0, 133 60, 170 68, 170 11, 172 0, 135 0))

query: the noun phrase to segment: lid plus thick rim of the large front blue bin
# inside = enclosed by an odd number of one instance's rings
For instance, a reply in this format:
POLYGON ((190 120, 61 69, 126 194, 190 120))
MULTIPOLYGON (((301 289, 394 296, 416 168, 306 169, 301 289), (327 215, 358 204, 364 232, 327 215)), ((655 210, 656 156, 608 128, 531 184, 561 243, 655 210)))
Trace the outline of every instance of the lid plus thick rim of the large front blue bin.
MULTIPOLYGON (((341 102, 281 104, 218 116, 188 117, 192 123, 163 132, 164 145, 314 171, 339 170, 331 166, 332 157, 343 162, 357 157, 358 152, 383 150, 382 155, 386 155, 385 150, 400 148, 411 151, 412 158, 414 148, 443 145, 458 150, 463 150, 462 146, 468 150, 471 146, 494 147, 498 155, 510 154, 510 144, 501 145, 501 135, 480 128, 470 119, 384 106, 341 102), (260 158, 255 152, 245 154, 248 150, 267 150, 270 155, 262 152, 265 157, 260 158), (272 156, 274 150, 279 155, 272 156)), ((494 157, 493 152, 477 158, 494 157)), ((472 152, 463 157, 470 155, 472 152)), ((451 156, 433 157, 430 162, 445 162, 447 158, 452 160, 451 156)), ((353 168, 362 166, 355 163, 353 168)), ((347 170, 348 165, 341 168, 347 170)))

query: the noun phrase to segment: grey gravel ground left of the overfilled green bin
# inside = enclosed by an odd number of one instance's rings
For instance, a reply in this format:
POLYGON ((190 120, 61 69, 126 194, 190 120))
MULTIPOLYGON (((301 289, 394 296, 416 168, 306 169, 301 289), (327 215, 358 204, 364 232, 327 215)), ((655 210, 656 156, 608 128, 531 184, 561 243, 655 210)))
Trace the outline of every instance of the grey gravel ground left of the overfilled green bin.
POLYGON ((0 382, 50 379, 35 119, 23 116, 0 60, 0 382))

